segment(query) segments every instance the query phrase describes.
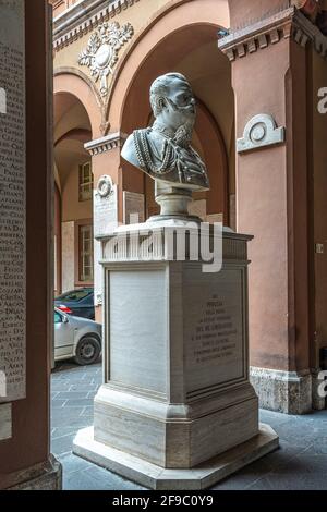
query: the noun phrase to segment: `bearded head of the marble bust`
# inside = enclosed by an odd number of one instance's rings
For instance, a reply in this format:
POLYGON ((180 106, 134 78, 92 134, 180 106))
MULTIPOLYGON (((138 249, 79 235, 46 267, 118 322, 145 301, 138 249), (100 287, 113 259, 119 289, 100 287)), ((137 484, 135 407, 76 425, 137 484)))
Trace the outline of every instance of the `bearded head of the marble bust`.
POLYGON ((193 130, 196 101, 191 85, 180 73, 168 73, 155 80, 150 87, 150 103, 156 120, 173 131, 181 126, 193 130))

